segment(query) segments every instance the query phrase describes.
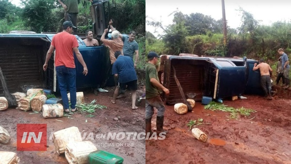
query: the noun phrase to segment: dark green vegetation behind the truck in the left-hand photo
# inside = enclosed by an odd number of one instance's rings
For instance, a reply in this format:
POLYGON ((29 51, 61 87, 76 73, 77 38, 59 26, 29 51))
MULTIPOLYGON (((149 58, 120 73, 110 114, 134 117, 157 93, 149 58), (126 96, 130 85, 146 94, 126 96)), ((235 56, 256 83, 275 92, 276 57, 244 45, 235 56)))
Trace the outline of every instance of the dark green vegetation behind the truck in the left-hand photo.
MULTIPOLYGON (((79 1, 78 32, 93 29, 90 13, 91 2, 79 1)), ((138 69, 146 64, 146 0, 109 0, 110 18, 120 33, 136 32, 139 43, 138 69)), ((22 8, 9 0, 0 0, 0 33, 10 31, 61 32, 65 21, 64 9, 58 0, 21 0, 22 8)))

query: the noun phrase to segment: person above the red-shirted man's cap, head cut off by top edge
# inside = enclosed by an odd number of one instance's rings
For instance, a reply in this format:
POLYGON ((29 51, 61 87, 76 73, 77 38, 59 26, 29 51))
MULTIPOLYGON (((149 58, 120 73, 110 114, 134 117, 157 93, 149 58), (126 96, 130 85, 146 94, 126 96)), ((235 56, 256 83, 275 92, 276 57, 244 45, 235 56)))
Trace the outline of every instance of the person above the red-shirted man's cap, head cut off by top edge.
MULTIPOLYGON (((71 21, 75 27, 77 26, 78 0, 65 0, 66 5, 62 0, 58 0, 62 7, 65 9, 65 21, 71 21)), ((93 2, 92 0, 89 0, 93 2)), ((77 28, 74 29, 74 33, 78 33, 77 28)))

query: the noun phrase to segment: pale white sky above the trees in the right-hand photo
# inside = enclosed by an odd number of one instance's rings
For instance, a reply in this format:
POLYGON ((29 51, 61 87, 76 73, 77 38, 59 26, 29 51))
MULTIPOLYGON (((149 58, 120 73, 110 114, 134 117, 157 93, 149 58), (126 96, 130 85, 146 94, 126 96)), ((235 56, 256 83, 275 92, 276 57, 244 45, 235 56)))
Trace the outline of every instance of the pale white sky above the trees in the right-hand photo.
MULTIPOLYGON (((225 0, 227 26, 237 28, 241 25, 239 7, 251 13, 261 25, 271 25, 276 21, 291 22, 291 0, 225 0)), ((222 0, 146 0, 146 20, 162 21, 164 26, 172 24, 174 11, 183 14, 202 13, 215 20, 222 18, 222 0)), ((159 29, 146 24, 146 31, 157 36, 159 29)))

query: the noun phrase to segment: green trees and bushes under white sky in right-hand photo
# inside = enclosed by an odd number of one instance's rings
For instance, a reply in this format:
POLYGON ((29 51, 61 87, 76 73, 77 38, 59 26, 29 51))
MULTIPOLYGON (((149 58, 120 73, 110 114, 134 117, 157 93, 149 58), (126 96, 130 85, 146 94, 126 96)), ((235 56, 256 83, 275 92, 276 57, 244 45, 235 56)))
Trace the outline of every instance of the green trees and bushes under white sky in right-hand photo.
MULTIPOLYGON (((291 22, 275 22, 270 26, 259 25, 251 13, 239 9, 241 26, 237 29, 227 27, 226 45, 223 43, 222 20, 214 20, 201 13, 184 15, 174 12, 173 24, 162 26, 162 21, 146 21, 164 34, 156 38, 146 32, 146 51, 158 54, 178 55, 192 53, 210 56, 247 56, 249 59, 263 58, 274 65, 279 48, 291 58, 291 22)), ((226 16, 227 17, 227 16, 226 16)), ((274 67, 273 67, 274 68, 274 67)), ((275 72, 275 69, 273 69, 275 72)), ((273 76, 275 77, 275 76, 273 76)))

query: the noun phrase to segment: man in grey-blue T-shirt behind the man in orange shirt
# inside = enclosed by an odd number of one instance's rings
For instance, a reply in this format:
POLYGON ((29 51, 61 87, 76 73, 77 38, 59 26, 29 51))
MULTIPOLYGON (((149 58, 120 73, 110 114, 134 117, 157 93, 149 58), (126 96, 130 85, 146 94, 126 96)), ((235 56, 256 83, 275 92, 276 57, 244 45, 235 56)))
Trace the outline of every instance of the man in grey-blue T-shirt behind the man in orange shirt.
MULTIPOLYGON (((112 26, 113 21, 109 21, 109 26, 112 31, 115 31, 115 28, 112 26)), ((135 39, 135 32, 130 31, 129 32, 129 38, 123 36, 122 34, 119 34, 119 37, 122 38, 122 41, 124 43, 123 46, 123 55, 124 56, 129 56, 131 57, 133 61, 133 56, 135 53, 135 62, 134 62, 134 67, 136 68, 137 66, 137 61, 138 61, 138 43, 134 40, 135 39)))

